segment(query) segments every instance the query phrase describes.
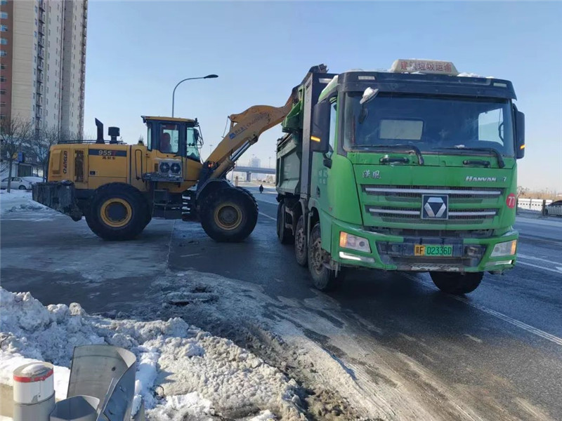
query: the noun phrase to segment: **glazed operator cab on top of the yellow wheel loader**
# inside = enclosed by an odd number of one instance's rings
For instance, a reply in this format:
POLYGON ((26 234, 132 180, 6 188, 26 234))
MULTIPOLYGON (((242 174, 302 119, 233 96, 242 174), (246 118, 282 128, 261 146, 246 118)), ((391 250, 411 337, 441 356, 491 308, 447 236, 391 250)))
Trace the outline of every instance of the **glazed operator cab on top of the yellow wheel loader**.
POLYGON ((199 151, 203 139, 197 119, 143 116, 143 121, 147 126, 146 147, 149 151, 201 161, 199 151))

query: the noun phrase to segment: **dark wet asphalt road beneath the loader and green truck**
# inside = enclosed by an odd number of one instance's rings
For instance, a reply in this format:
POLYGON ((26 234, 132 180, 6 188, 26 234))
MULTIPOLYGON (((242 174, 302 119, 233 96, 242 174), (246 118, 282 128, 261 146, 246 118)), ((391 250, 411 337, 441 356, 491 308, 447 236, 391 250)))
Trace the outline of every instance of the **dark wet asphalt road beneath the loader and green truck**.
POLYGON ((385 415, 562 419, 561 220, 518 217, 516 268, 487 274, 465 297, 440 293, 427 274, 368 271, 326 295, 311 288, 292 247, 277 242, 275 195, 255 196, 258 225, 237 244, 214 243, 191 222, 155 220, 136 241, 107 243, 84 221, 4 214, 2 286, 29 290, 45 304, 78 301, 88 312, 106 312, 135 307, 166 272, 195 269, 240 279, 291 302, 295 311, 287 318, 355 373, 363 391, 389 394, 395 409, 381 407, 385 415), (311 309, 313 300, 321 307, 311 309), (425 415, 397 409, 400 394, 421 402, 425 415))

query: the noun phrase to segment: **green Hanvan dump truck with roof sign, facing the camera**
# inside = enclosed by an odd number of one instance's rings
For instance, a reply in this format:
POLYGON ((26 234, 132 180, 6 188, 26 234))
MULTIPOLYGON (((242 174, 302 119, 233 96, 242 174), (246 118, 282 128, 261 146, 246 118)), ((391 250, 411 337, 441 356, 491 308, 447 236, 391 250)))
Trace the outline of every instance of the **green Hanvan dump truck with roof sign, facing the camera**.
POLYGON ((329 290, 348 267, 429 272, 447 293, 514 267, 525 116, 510 81, 451 62, 311 68, 277 141, 277 236, 329 290))

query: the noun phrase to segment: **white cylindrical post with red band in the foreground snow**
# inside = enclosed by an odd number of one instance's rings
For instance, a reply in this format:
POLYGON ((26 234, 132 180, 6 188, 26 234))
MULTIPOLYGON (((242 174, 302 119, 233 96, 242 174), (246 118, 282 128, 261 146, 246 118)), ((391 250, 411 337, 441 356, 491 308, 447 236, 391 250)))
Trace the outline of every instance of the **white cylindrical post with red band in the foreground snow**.
POLYGON ((13 371, 13 421, 49 421, 55 407, 53 365, 27 363, 13 371))

